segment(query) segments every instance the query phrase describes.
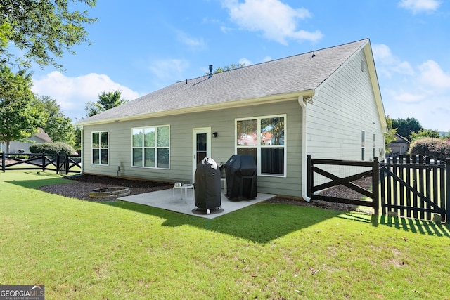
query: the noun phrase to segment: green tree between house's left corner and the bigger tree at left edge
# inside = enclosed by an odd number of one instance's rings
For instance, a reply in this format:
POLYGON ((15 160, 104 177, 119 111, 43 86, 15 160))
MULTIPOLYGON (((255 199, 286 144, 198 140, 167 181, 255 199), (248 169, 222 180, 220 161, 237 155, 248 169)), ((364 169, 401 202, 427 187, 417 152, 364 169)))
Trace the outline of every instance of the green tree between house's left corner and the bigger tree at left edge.
POLYGON ((61 112, 60 105, 49 96, 41 96, 37 101, 49 113, 49 119, 42 126, 42 129, 50 136, 51 141, 64 142, 73 146, 75 141, 75 128, 72 125, 72 120, 61 112))

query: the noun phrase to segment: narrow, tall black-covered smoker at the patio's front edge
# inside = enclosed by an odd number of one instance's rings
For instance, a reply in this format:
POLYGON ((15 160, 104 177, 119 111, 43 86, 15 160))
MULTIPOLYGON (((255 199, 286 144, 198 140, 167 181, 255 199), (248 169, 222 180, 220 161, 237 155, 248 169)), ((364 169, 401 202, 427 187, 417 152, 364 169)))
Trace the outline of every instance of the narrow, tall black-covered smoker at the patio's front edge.
POLYGON ((221 206, 220 170, 214 159, 205 157, 195 170, 195 209, 221 206))

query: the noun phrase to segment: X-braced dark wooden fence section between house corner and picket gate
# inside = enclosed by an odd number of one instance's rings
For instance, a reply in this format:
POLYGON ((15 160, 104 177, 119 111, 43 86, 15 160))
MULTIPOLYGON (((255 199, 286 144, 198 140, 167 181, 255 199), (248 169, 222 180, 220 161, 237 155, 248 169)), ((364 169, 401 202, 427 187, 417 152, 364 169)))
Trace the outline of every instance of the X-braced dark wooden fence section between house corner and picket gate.
MULTIPOLYGON (((379 181, 379 164, 378 157, 375 157, 373 162, 355 162, 348 160, 335 160, 335 159, 312 159, 311 155, 308 155, 307 161, 307 195, 311 198, 311 200, 324 200, 328 202, 339 202, 345 204, 353 204, 353 205, 362 205, 366 207, 373 207, 375 214, 378 214, 378 210, 380 207, 379 202, 379 189, 378 189, 378 181, 379 181), (331 166, 340 166, 336 169, 335 174, 330 171, 332 169, 331 166), (351 175, 342 176, 342 167, 355 167, 356 169, 359 167, 364 167, 366 171, 362 172, 353 172, 351 175), (327 168, 328 167, 328 168, 327 168), (356 174, 354 174, 356 173, 356 174), (324 183, 319 183, 316 185, 314 182, 314 174, 322 176, 325 178, 324 183), (367 188, 362 188, 361 186, 354 183, 361 178, 371 177, 372 180, 372 190, 367 188), (362 195, 365 199, 349 199, 346 197, 333 197, 327 195, 321 195, 319 192, 321 190, 326 190, 329 188, 333 188, 338 185, 344 185, 350 190, 354 190, 357 192, 357 195, 362 195)), ((355 170, 356 170, 355 169, 355 170)))

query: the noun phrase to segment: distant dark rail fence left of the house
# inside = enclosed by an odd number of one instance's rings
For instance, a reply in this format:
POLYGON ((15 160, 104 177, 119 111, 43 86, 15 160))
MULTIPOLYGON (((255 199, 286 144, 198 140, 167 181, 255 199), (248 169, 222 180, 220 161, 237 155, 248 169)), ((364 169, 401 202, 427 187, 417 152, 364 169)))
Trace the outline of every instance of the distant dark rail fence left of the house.
POLYGON ((56 174, 79 173, 80 155, 49 153, 1 153, 1 171, 41 170, 56 171, 56 174))

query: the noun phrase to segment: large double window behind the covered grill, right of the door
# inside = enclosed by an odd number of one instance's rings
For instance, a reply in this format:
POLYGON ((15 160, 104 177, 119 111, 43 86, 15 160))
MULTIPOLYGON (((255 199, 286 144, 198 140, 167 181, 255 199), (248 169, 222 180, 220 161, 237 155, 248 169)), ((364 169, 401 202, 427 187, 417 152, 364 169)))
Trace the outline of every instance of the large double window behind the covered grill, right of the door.
POLYGON ((258 175, 285 176, 286 115, 236 119, 236 152, 252 155, 258 175))

